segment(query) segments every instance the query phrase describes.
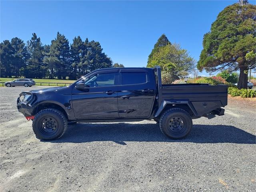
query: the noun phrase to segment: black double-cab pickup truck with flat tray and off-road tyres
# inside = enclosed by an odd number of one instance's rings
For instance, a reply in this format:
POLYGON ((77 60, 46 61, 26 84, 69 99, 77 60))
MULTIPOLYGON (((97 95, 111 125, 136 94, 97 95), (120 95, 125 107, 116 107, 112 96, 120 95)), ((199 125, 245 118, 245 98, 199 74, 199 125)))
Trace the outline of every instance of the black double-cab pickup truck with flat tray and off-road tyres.
POLYGON ((224 115, 227 95, 226 85, 162 84, 159 67, 106 68, 70 86, 22 92, 17 108, 42 140, 60 138, 71 123, 142 120, 155 120, 163 134, 180 139, 192 119, 224 115))

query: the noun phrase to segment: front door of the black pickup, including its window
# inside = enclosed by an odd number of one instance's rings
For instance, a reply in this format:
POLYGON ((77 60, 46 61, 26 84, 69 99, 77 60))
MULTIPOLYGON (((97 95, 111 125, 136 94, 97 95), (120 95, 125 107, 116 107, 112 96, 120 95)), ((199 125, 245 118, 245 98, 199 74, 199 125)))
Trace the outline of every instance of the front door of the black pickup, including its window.
POLYGON ((118 70, 96 72, 84 81, 85 88, 72 92, 77 119, 118 118, 118 70))

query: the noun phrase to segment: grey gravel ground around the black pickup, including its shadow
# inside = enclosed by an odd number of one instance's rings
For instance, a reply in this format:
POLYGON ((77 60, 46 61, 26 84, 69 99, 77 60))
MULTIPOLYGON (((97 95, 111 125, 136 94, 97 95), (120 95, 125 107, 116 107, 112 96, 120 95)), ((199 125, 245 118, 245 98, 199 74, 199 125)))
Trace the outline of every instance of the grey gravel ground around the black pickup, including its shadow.
POLYGON ((31 89, 0 88, 0 191, 255 191, 256 107, 230 102, 183 140, 145 120, 80 123, 42 142, 16 109, 31 89))

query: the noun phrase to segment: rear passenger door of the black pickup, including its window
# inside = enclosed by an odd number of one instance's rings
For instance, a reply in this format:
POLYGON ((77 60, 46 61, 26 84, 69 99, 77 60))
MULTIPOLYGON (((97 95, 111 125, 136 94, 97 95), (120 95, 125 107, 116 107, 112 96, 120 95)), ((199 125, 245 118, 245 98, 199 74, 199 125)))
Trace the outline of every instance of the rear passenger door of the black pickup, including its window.
MULTIPOLYGON (((150 69, 149 69, 150 70, 150 69)), ((118 111, 120 118, 150 116, 155 96, 153 72, 146 69, 120 69, 118 111)))

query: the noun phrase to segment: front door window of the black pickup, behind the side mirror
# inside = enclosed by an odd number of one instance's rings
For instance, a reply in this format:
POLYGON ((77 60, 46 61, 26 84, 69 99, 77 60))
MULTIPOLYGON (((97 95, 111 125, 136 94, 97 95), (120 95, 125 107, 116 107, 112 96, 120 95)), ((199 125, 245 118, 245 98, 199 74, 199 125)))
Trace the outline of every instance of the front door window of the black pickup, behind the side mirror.
POLYGON ((84 80, 86 87, 113 86, 115 83, 115 73, 96 74, 84 80))

